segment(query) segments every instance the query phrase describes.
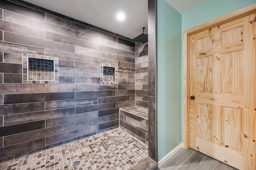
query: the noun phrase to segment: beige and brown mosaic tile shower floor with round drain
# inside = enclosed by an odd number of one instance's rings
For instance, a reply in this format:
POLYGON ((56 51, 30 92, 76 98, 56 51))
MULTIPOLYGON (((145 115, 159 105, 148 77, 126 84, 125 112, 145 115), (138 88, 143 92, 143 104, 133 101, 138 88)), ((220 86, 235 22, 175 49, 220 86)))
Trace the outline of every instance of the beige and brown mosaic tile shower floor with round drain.
POLYGON ((146 145, 114 129, 0 164, 0 170, 131 170, 147 157, 146 145), (81 163, 73 167, 76 160, 81 163))

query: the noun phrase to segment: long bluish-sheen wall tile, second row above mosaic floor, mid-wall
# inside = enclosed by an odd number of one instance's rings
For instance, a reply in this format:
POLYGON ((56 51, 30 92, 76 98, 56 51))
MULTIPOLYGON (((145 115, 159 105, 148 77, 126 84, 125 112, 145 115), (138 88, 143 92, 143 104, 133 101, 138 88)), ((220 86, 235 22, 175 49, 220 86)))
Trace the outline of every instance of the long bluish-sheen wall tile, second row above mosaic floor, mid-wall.
POLYGON ((75 137, 79 137, 79 136, 93 133, 96 131, 98 131, 98 125, 93 125, 93 126, 86 127, 84 129, 77 129, 74 131, 69 131, 66 133, 61 133, 58 135, 46 137, 46 145, 52 145, 60 141, 66 141, 68 139, 73 139, 75 137))

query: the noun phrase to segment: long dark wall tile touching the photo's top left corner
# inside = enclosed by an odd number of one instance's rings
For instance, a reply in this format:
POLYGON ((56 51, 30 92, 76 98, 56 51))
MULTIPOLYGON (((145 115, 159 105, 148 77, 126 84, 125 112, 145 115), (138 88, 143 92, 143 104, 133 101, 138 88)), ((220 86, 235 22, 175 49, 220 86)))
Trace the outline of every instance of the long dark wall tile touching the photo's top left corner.
POLYGON ((31 18, 35 18, 37 20, 44 21, 44 13, 38 10, 34 10, 32 8, 28 8, 26 6, 22 6, 20 4, 12 3, 7 0, 1 1, 1 8, 4 10, 8 10, 11 12, 15 12, 18 14, 22 14, 24 16, 28 16, 31 18))

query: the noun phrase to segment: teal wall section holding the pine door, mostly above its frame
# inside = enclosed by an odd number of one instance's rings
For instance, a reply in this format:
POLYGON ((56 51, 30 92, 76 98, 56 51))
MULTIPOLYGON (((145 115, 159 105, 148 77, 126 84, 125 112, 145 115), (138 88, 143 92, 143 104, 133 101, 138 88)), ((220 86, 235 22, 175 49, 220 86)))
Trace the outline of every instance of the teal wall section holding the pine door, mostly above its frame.
MULTIPOLYGON (((214 20, 246 6, 256 3, 256 0, 210 0, 202 4, 198 8, 187 12, 182 15, 182 42, 183 32, 194 28, 198 25, 214 20)), ((183 43, 182 43, 183 51, 183 43)), ((183 52, 182 52, 182 84, 183 84, 183 52)), ((183 96, 183 89, 182 89, 183 96)), ((182 98, 183 104, 183 98, 182 98)), ((182 106, 183 113, 183 106, 182 106)), ((182 127, 183 127, 183 114, 182 114, 182 127)), ((183 128, 182 128, 183 134, 183 128)), ((183 135, 182 135, 183 142, 183 135)))

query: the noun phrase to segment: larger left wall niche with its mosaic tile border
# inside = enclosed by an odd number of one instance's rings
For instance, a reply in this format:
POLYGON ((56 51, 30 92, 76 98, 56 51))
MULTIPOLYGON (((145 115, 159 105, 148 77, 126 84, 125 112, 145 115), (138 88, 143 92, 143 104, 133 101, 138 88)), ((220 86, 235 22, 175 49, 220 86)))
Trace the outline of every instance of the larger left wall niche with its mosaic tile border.
POLYGON ((58 84, 58 57, 22 53, 23 84, 58 84))

